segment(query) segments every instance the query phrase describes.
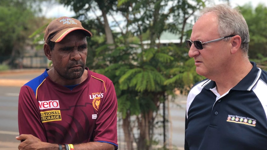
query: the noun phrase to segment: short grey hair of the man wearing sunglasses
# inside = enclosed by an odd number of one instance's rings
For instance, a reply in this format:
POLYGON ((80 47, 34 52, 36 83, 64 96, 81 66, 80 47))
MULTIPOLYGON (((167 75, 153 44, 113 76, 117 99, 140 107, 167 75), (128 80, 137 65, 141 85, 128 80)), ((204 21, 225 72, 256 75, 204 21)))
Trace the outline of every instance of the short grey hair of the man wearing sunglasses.
MULTIPOLYGON (((200 12, 200 17, 206 14, 214 13, 218 19, 218 33, 221 37, 229 35, 239 35, 241 37, 241 46, 245 54, 248 53, 249 32, 246 20, 237 8, 232 9, 226 4, 220 4, 212 7, 205 7, 200 12)), ((199 17, 199 18, 200 18, 199 17)), ((225 38, 229 40, 230 38, 225 38)))

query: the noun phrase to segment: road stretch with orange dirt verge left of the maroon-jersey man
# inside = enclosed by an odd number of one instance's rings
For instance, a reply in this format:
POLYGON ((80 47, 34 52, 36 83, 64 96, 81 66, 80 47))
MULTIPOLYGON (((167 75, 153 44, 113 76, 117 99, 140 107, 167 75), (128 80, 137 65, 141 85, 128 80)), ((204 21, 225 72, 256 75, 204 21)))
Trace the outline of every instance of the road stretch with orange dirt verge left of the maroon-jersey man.
POLYGON ((16 150, 19 141, 18 96, 20 87, 44 69, 0 72, 0 150, 16 150), (27 73, 26 73, 27 72, 27 73))

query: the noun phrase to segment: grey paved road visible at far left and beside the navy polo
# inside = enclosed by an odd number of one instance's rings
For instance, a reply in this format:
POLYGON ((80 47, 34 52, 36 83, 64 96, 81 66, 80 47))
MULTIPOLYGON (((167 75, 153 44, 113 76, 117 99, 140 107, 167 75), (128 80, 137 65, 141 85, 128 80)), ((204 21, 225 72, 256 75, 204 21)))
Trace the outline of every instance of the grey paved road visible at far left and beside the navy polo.
MULTIPOLYGON (((27 70, 0 72, 0 150, 16 150, 19 141, 15 139, 19 135, 17 123, 17 107, 20 87, 30 79, 40 75, 41 70, 27 70)), ((169 131, 168 143, 174 145, 174 149, 183 149, 184 144, 184 116, 186 96, 179 96, 169 103, 169 131)))

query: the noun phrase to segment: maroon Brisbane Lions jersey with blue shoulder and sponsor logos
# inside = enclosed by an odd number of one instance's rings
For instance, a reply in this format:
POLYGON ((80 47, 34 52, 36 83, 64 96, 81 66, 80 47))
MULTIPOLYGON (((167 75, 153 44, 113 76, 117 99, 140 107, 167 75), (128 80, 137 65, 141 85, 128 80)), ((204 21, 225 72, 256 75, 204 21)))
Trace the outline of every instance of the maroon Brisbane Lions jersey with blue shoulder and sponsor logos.
POLYGON ((70 90, 53 82, 47 70, 20 89, 20 134, 55 144, 106 142, 117 149, 117 98, 112 81, 86 68, 87 79, 70 90))

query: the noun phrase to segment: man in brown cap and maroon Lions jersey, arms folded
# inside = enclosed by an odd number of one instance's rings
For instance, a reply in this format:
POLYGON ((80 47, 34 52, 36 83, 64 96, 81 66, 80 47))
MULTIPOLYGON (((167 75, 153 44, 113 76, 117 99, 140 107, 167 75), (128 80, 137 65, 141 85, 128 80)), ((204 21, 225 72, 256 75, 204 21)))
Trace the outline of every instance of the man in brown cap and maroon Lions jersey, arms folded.
POLYGON ((118 148, 115 89, 106 76, 85 67, 86 36, 91 32, 69 17, 46 28, 44 52, 53 67, 21 87, 18 149, 118 148))

